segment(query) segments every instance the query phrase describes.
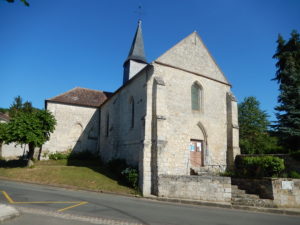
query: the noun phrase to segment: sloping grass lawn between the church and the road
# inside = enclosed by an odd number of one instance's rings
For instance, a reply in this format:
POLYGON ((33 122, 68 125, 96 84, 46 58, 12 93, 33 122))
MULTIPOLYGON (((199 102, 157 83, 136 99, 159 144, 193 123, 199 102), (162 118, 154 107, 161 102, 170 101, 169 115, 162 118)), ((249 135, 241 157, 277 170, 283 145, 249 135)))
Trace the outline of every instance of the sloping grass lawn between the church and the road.
POLYGON ((7 164, 0 167, 0 177, 93 191, 137 194, 118 182, 115 175, 95 161, 37 161, 33 168, 7 164))

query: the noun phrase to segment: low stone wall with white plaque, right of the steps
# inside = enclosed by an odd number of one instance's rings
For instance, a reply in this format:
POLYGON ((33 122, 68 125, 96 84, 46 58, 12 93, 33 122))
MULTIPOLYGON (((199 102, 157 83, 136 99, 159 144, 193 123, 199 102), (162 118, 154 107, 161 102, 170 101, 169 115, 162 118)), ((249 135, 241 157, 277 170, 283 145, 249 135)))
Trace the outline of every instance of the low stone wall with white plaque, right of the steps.
POLYGON ((257 194, 261 198, 272 199, 278 207, 300 207, 300 179, 233 178, 232 184, 238 185, 248 194, 257 194))

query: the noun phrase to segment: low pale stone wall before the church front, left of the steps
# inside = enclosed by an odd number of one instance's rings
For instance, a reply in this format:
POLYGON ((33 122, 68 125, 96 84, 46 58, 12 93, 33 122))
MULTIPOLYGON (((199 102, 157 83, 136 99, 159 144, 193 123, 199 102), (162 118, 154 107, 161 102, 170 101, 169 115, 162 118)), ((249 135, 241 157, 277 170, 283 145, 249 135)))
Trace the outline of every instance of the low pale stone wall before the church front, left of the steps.
POLYGON ((160 175, 158 196, 230 203, 231 179, 218 176, 160 175))

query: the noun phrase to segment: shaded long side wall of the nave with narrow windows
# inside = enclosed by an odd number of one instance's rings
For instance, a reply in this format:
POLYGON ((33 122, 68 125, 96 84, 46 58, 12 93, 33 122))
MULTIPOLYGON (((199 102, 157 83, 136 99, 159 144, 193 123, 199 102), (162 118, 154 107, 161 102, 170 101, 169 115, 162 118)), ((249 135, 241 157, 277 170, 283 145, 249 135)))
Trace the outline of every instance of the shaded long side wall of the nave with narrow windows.
MULTIPOLYGON (((146 72, 141 73, 143 74, 132 78, 124 88, 101 106, 100 156, 104 162, 113 158, 122 158, 132 166, 139 166, 140 154, 144 146, 147 100, 146 72), (132 100, 134 102, 133 127, 132 100)), ((142 177, 142 174, 140 176, 142 177)))

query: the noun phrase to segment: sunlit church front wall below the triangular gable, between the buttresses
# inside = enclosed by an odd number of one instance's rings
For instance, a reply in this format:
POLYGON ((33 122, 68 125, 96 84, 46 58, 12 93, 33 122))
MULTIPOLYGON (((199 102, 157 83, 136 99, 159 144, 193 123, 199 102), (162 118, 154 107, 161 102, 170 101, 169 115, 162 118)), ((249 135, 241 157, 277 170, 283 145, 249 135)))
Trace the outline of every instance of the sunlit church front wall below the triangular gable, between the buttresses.
POLYGON ((203 139, 199 122, 208 136, 205 165, 223 170, 227 152, 226 93, 230 87, 158 64, 154 64, 155 77, 165 83, 159 85, 157 96, 153 97, 157 101, 156 117, 159 117, 157 142, 163 143, 157 148, 158 174, 189 174, 190 139, 203 139), (203 87, 202 112, 191 110, 191 86, 195 81, 203 87))

